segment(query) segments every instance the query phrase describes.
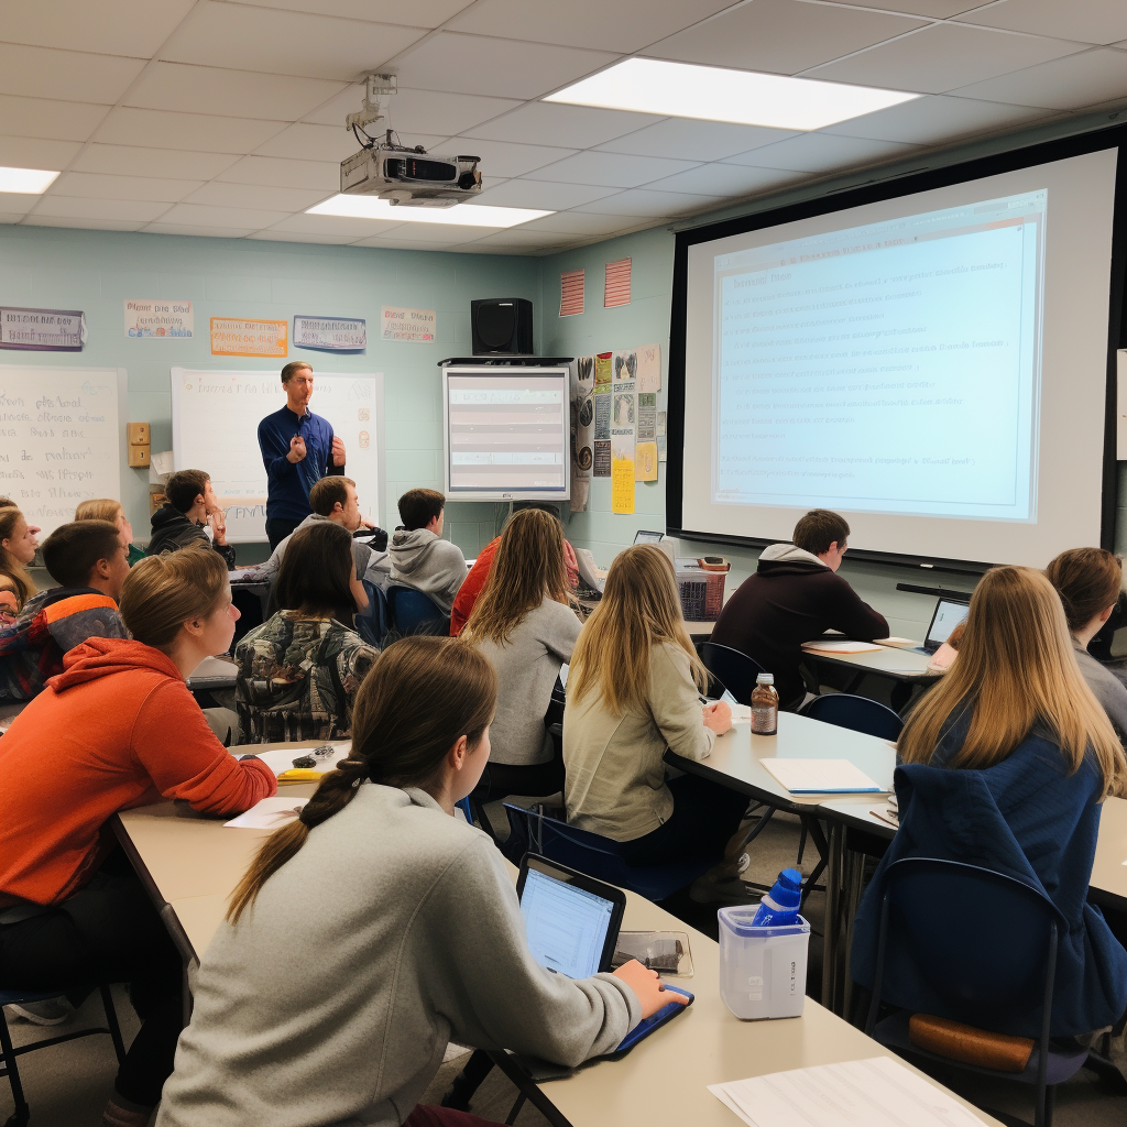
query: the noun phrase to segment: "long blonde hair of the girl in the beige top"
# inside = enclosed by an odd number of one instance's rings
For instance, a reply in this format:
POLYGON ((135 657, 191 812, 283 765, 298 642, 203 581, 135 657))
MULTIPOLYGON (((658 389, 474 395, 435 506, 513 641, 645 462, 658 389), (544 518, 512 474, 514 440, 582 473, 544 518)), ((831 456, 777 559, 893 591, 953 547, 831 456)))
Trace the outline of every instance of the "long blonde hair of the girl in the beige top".
POLYGON ((642 711, 649 698, 650 650, 671 642, 689 655, 696 687, 708 673, 689 640, 669 557, 656 544, 633 544, 614 557, 603 598, 579 635, 568 673, 568 696, 602 696, 615 716, 642 711))

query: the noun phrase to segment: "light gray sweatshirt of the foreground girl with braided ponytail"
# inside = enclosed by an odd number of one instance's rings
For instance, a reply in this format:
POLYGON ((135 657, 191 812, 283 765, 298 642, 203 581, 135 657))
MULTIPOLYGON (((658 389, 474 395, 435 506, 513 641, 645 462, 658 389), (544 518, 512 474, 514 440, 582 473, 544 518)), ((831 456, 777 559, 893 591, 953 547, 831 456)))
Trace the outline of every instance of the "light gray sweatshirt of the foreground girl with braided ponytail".
POLYGON ((640 1018, 612 975, 535 962, 480 829, 366 783, 216 932, 157 1127, 398 1127, 451 1039, 577 1065, 640 1018))

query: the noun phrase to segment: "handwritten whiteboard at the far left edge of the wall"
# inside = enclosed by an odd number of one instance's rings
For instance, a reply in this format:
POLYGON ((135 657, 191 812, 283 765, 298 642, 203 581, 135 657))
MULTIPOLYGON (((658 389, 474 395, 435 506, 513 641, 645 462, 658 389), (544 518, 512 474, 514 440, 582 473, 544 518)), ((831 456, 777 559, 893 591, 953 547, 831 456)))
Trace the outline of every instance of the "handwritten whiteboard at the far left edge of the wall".
POLYGON ((0 365, 0 494, 44 534, 119 500, 126 408, 124 367, 0 365))

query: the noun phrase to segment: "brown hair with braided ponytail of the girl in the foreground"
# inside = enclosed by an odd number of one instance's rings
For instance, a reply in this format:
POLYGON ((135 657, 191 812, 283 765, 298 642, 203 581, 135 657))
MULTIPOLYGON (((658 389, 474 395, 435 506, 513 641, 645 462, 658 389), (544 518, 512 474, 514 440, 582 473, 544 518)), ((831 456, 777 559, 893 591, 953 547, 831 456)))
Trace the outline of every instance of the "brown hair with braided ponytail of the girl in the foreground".
POLYGON ((365 781, 434 787, 450 748, 460 736, 477 746, 496 704, 497 674, 467 642, 412 637, 389 646, 356 694, 350 755, 321 779, 296 822, 263 842, 231 894, 228 921, 239 922, 263 885, 296 857, 310 829, 343 810, 365 781))

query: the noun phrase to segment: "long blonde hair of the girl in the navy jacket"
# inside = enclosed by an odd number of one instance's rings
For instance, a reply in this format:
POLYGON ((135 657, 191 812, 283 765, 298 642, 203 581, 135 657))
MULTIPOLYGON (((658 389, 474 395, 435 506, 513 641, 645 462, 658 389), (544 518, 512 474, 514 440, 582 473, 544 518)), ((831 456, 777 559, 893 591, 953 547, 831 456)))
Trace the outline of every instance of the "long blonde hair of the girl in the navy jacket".
POLYGON ((1070 774, 1091 748, 1103 795, 1124 792, 1122 745, 1080 672, 1061 600, 1040 571, 1000 567, 983 577, 959 659, 912 710, 896 745, 900 758, 930 763, 948 718, 970 709, 951 766, 1001 763, 1040 721, 1061 745, 1070 774))

